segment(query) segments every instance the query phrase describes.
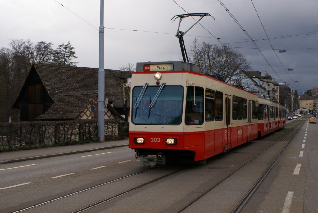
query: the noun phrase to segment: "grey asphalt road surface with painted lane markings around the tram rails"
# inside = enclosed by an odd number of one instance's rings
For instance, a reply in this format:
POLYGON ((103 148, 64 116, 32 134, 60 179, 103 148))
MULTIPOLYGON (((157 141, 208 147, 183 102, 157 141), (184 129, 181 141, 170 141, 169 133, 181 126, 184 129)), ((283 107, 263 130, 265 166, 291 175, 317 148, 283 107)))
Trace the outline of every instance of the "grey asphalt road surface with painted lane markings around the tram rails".
MULTIPOLYGON (((318 124, 305 122, 241 212, 318 212, 317 130, 318 124)), ((174 212, 270 143, 252 141, 86 212, 174 212)), ((230 212, 286 143, 276 143, 184 212, 230 212)), ((72 212, 183 166, 159 167, 27 212, 72 212)), ((3 164, 0 211, 13 212, 146 169, 128 147, 3 164)))

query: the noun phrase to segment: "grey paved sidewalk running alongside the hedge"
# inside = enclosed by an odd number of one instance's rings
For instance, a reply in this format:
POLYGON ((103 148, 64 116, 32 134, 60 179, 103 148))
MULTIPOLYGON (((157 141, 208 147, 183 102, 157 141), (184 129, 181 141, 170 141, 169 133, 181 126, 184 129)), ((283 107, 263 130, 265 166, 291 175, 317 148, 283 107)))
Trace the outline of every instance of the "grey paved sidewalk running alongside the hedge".
POLYGON ((102 149, 110 149, 115 147, 128 146, 129 141, 126 140, 114 140, 104 142, 94 142, 86 144, 76 144, 69 146, 55 146, 30 150, 19 150, 13 152, 0 153, 0 164, 13 163, 24 160, 34 160, 40 158, 50 158, 54 156, 84 153, 97 151, 102 149))

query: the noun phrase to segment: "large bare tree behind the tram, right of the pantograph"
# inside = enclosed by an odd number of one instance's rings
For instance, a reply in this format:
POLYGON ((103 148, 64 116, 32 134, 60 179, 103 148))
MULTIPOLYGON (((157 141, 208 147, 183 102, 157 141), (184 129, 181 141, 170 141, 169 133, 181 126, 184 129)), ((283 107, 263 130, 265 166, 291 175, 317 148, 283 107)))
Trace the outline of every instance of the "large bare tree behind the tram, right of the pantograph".
POLYGON ((193 42, 191 54, 192 62, 198 64, 203 73, 216 73, 221 75, 225 82, 231 82, 241 70, 250 67, 245 56, 231 46, 213 46, 210 44, 199 44, 197 39, 193 42))

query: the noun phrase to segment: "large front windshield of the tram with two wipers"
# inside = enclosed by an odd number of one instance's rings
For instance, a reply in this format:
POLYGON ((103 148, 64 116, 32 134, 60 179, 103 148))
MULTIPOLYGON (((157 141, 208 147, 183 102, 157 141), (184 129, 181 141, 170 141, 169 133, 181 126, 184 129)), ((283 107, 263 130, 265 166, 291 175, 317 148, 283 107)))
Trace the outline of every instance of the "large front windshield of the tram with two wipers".
POLYGON ((132 90, 131 121, 133 124, 181 124, 182 102, 182 86, 136 86, 132 90))

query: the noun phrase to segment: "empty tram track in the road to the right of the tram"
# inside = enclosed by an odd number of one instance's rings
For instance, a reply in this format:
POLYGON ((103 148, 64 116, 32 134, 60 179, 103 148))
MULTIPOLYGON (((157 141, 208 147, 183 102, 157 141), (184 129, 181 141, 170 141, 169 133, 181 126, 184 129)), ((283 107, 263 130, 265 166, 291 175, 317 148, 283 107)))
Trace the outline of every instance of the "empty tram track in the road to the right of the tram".
POLYGON ((249 160, 246 160, 244 163, 239 165, 239 167, 235 168, 233 171, 230 173, 226 174, 223 178, 221 178, 219 181, 213 183, 211 186, 206 188, 203 192, 201 192, 199 195, 194 197, 192 200, 189 202, 185 203, 183 206, 181 206, 179 209, 174 211, 174 213, 179 213, 182 212, 183 210, 187 209, 189 206, 197 202, 200 198, 202 198, 204 195, 206 195, 208 192, 210 192, 213 188, 217 187, 220 185, 223 181, 231 177, 233 174, 235 174, 239 169, 243 168, 246 166, 248 163, 252 162, 256 157, 258 157, 261 153, 264 153, 268 148, 273 146, 275 143, 278 141, 288 141, 287 145, 280 151, 280 153, 276 156, 276 158, 273 160, 273 162, 270 164, 269 167, 264 171, 264 173, 259 177, 259 179, 255 182, 255 184, 250 188, 250 190, 245 194, 243 199, 236 205, 236 207, 231 211, 231 213, 238 213, 244 205, 248 202, 250 197, 253 195, 253 193, 256 191, 256 189, 259 187, 259 185, 264 181, 266 178, 267 174, 271 171, 277 160, 280 158, 282 153, 285 151, 287 146, 290 144, 292 139, 295 137, 297 132, 300 130, 301 126, 305 123, 305 120, 300 120, 296 121, 293 123, 290 123, 285 127, 285 129, 280 130, 280 132, 276 132, 273 135, 269 135, 267 137, 262 138, 261 140, 267 140, 267 141, 273 141, 269 146, 261 150, 259 153, 254 155, 252 158, 249 160))

